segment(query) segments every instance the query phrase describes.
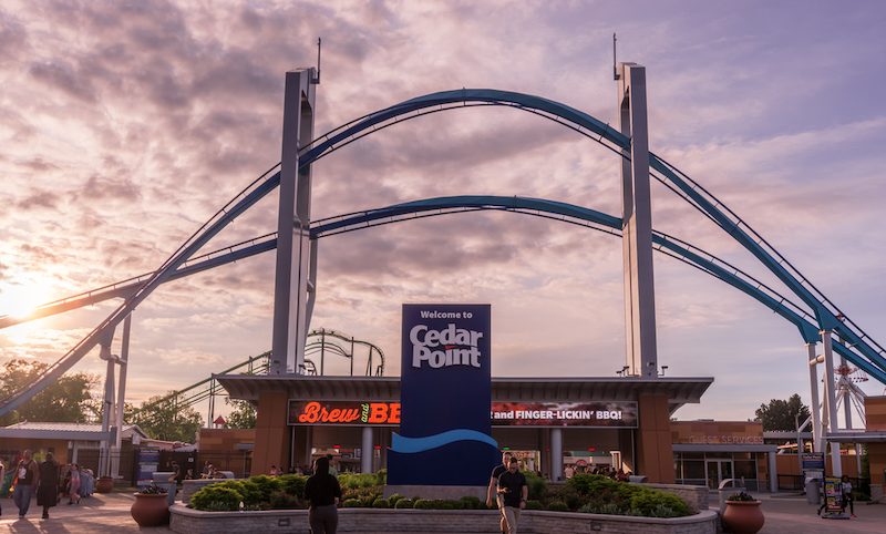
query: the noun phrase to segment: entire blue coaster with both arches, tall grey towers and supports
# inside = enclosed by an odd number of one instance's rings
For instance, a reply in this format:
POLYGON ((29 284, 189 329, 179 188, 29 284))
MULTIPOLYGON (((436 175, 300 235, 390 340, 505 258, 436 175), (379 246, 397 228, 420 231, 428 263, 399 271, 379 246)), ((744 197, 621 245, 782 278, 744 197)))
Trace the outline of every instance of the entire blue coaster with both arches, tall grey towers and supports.
MULTIPOLYGON (((347 232, 349 226, 358 224, 368 225, 371 222, 383 224, 380 222, 385 218, 390 219, 388 222, 396 218, 405 219, 411 214, 430 215, 430 212, 434 210, 452 213, 459 209, 504 209, 528 213, 537 209, 546 214, 557 214, 564 219, 585 220, 585 223, 576 224, 587 224, 622 237, 625 243, 622 249, 627 339, 627 370, 624 376, 626 378, 658 377, 651 263, 653 249, 666 251, 666 254, 678 257, 733 285, 794 324, 806 345, 813 408, 820 404, 816 364, 825 364, 823 414, 820 417, 818 410, 814 409, 812 418, 815 450, 824 451, 827 441, 838 442, 841 438, 836 401, 838 397, 843 399, 844 396, 837 396, 836 390, 846 388, 846 394, 849 394, 851 388, 847 384, 853 383, 848 378, 839 382, 835 376, 833 352, 837 352, 847 362, 853 363, 857 369, 879 382, 886 383, 886 358, 884 358, 886 350, 847 319, 810 280, 803 277, 724 204, 674 166, 648 151, 645 68, 633 63, 619 63, 616 72, 620 75, 618 78, 619 130, 578 110, 538 96, 496 90, 463 89, 433 93, 402 102, 344 124, 318 138, 313 137, 315 86, 319 83, 316 70, 301 69, 288 72, 286 75, 282 158, 279 172, 274 172, 277 168, 275 166, 249 184, 154 273, 121 285, 101 288, 95 292, 81 295, 79 298, 56 301, 43 307, 44 310, 52 308, 61 311, 105 298, 124 298, 120 307, 66 355, 51 364, 43 374, 0 401, 0 414, 13 410, 21 402, 33 397, 99 345, 101 347, 100 357, 107 361, 109 369, 105 387, 105 413, 109 417, 103 418, 103 430, 105 438, 110 439, 109 424, 120 424, 122 418, 132 311, 165 281, 227 263, 220 257, 207 257, 203 261, 196 261, 199 257, 195 255, 228 224, 277 186, 280 186, 280 208, 276 236, 257 238, 250 245, 235 245, 229 247, 224 255, 235 258, 258 254, 256 250, 259 248, 264 248, 264 250, 277 248, 274 348, 269 362, 269 373, 271 374, 300 374, 307 370, 305 351, 308 346, 306 340, 310 333, 308 327, 316 302, 317 239, 319 237, 347 232), (618 218, 605 214, 587 213, 590 210, 583 213, 583 208, 549 201, 508 198, 507 202, 511 203, 508 207, 502 197, 449 197, 401 204, 377 212, 350 214, 336 220, 317 222, 321 223, 317 225, 311 220, 311 164, 313 162, 365 135, 403 123, 409 119, 483 105, 508 106, 543 116, 619 154, 622 161, 622 216, 618 218), (653 233, 649 216, 649 176, 661 182, 738 240, 802 304, 791 302, 767 286, 756 283, 743 271, 732 268, 729 264, 707 255, 686 242, 653 233), (539 209, 543 204, 546 209, 539 209), (111 353, 111 345, 115 328, 121 322, 124 322, 123 349, 122 356, 115 356, 111 353), (845 343, 834 343, 834 335, 845 343), (815 346, 820 342, 823 351, 822 355, 816 355, 815 346), (115 366, 121 368, 121 388, 116 410, 113 409, 115 366)), ((0 326, 11 324, 14 324, 12 318, 0 318, 0 326)), ((371 370, 371 363, 369 367, 371 370)), ((845 399, 843 404, 848 405, 845 399)), ((838 448, 832 448, 832 454, 835 454, 834 465, 838 471, 838 448)), ((839 473, 835 472, 835 474, 839 473)))

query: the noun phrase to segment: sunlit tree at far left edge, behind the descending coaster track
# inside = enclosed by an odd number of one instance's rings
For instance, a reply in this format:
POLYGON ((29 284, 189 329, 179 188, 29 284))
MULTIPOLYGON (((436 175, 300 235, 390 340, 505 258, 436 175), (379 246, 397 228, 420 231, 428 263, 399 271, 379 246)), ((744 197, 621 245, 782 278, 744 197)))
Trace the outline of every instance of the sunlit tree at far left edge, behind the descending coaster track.
MULTIPOLYGON (((0 399, 18 391, 49 368, 39 361, 10 360, 0 368, 0 399)), ((47 386, 18 409, 0 417, 0 427, 20 421, 55 423, 86 422, 84 405, 92 399, 91 390, 99 377, 85 372, 65 374, 47 386)))

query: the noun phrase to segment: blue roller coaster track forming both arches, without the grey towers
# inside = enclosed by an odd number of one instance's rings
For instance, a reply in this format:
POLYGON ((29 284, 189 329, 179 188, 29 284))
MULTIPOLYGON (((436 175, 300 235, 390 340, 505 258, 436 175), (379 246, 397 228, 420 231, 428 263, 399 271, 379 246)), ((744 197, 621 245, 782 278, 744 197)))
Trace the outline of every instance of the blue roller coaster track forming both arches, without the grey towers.
MULTIPOLYGON (((332 152, 365 135, 370 135, 400 122, 430 113, 483 105, 508 106, 543 116, 601 144, 621 157, 630 157, 630 137, 622 135, 608 124, 578 110, 546 99, 522 93, 465 89, 440 92, 409 100, 339 126, 318 137, 310 145, 301 150, 299 154, 299 168, 306 168, 313 162, 326 157, 332 152)), ((125 300, 83 340, 50 366, 45 372, 35 377, 31 382, 0 401, 0 415, 14 410, 22 402, 32 398, 45 386, 66 372, 95 347, 103 332, 115 328, 122 322, 123 319, 159 285, 178 276, 185 276, 185 273, 193 274, 214 267, 215 265, 213 261, 219 261, 217 257, 215 259, 210 257, 203 261, 192 261, 190 264, 189 260, 194 258, 194 255, 208 243, 209 239, 279 185, 279 172, 274 173, 278 166, 279 164, 275 165, 259 176, 234 199, 219 209, 157 270, 133 283, 135 287, 132 288, 131 291, 122 291, 117 287, 117 292, 120 294, 117 296, 125 295, 125 300)), ((744 220, 702 186, 681 173, 677 167, 651 153, 650 175, 707 216, 745 249, 751 251, 763 266, 774 274, 779 280, 807 307, 807 310, 789 301, 763 284, 754 280, 734 267, 729 266, 729 264, 673 237, 657 234, 655 246, 659 251, 692 264, 754 297, 756 300, 794 324, 806 343, 820 341, 821 331, 836 332, 847 345, 835 343, 834 350, 879 382, 886 383, 886 358, 884 358, 886 352, 883 347, 849 320, 846 314, 828 300, 744 220)), ((588 225, 616 235, 620 235, 621 229, 621 220, 617 217, 579 208, 577 206, 570 206, 568 204, 530 198, 451 197, 419 201, 374 212, 363 212, 360 214, 336 217, 333 219, 324 219, 323 222, 318 222, 316 226, 312 226, 311 234, 316 237, 322 237, 324 235, 357 229, 356 225, 367 226, 370 223, 379 224, 378 222, 385 219, 388 219, 388 222, 406 219, 415 217, 418 214, 427 215, 433 212, 442 214, 465 209, 505 209, 521 213, 536 210, 536 215, 539 216, 562 217, 564 220, 588 225)), ((237 246, 230 247, 230 250, 228 253, 223 253, 223 255, 243 254, 253 247, 261 246, 266 247, 266 249, 270 249, 268 247, 272 248, 272 246, 276 245, 270 243, 272 238, 268 236, 266 236, 264 240, 261 239, 262 238, 257 238, 255 244, 243 248, 237 248, 237 246)), ((276 239, 274 240, 276 242, 276 239)), ((214 253, 210 253, 210 255, 214 253)), ((0 322, 2 322, 2 320, 3 319, 0 318, 0 322)))

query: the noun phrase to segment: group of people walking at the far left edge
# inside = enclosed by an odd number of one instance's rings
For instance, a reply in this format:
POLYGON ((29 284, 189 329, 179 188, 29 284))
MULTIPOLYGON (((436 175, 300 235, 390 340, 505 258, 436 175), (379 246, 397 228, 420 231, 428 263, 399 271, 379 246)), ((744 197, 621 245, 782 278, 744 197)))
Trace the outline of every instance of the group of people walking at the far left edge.
POLYGON ((37 505, 43 509, 44 520, 49 518, 49 509, 60 504, 64 497, 68 497, 66 504, 76 505, 83 495, 92 492, 91 487, 84 487, 84 479, 93 480, 91 470, 81 469, 75 463, 62 465, 51 452, 45 454, 42 462, 32 458, 30 450, 8 463, 0 460, 0 491, 12 491, 19 518, 28 513, 34 496, 37 505))

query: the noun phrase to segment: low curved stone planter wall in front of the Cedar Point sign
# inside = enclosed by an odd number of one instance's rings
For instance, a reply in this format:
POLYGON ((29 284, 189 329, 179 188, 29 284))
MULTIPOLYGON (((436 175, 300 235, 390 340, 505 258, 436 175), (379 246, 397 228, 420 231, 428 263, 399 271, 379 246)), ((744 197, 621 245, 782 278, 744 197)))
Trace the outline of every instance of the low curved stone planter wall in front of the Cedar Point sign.
MULTIPOLYGON (((198 512, 176 504, 169 509, 169 528, 181 534, 255 534, 256 532, 303 532, 306 510, 269 512, 198 512)), ((492 533, 498 530, 494 510, 377 510, 340 509, 339 532, 452 532, 492 533)), ((525 511, 521 515, 523 534, 714 534, 717 513, 704 510, 689 517, 660 520, 570 512, 525 511)))

